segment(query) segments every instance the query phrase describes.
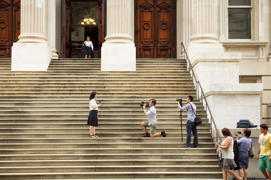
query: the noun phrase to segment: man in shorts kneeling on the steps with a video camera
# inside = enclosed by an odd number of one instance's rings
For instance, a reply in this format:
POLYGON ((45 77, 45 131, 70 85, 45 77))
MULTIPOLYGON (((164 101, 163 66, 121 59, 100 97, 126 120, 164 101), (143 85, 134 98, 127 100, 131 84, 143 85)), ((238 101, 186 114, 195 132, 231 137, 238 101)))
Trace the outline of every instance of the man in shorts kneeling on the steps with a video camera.
POLYGON ((148 112, 146 111, 146 104, 144 104, 143 109, 144 109, 144 115, 149 117, 148 121, 145 121, 141 123, 141 127, 145 132, 144 136, 141 137, 157 137, 159 135, 166 137, 166 133, 164 130, 162 130, 161 133, 155 133, 155 129, 157 128, 157 119, 156 119, 156 110, 155 110, 155 104, 156 101, 155 99, 150 99, 150 109, 148 112), (146 127, 150 127, 150 133, 148 133, 146 127))

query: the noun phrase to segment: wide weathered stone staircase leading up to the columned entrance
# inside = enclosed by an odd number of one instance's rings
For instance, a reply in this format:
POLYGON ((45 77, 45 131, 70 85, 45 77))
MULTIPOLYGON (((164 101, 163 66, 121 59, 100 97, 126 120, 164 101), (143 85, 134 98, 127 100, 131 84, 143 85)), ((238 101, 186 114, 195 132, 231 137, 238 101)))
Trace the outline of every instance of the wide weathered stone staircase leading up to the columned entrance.
MULTIPOLYGON (((135 72, 102 72, 100 59, 52 60, 46 72, 1 70, 0 179, 222 178, 200 102, 200 148, 181 143, 176 99, 195 91, 178 59, 138 59, 135 72), (99 138, 89 138, 87 125, 92 91, 102 101, 99 138), (140 102, 152 98, 156 132, 167 137, 139 139, 140 102)), ((186 121, 184 111, 183 142, 186 121)))

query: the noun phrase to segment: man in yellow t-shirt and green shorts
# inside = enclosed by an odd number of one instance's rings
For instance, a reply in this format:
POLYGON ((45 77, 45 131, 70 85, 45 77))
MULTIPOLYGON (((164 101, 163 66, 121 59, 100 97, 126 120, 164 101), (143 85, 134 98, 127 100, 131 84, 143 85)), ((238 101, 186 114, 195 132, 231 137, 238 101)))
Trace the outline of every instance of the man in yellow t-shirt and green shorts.
POLYGON ((266 124, 261 124, 260 129, 262 134, 259 136, 260 146, 257 153, 259 171, 264 174, 267 180, 271 180, 271 134, 267 132, 268 126, 266 124))

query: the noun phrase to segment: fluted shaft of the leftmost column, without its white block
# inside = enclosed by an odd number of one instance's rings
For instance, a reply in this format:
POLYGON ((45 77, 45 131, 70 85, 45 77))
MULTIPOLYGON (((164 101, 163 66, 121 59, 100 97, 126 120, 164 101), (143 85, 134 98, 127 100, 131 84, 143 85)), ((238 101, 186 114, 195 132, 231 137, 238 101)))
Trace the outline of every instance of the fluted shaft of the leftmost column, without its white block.
POLYGON ((45 0, 21 0, 21 34, 18 43, 46 43, 45 0))

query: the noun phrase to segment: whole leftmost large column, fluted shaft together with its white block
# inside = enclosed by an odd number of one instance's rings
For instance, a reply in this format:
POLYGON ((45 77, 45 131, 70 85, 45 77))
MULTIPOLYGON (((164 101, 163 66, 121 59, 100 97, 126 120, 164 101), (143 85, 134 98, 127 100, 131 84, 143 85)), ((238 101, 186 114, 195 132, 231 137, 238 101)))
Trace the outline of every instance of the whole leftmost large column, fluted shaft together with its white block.
POLYGON ((45 0, 21 0, 21 34, 12 47, 12 71, 46 71, 52 52, 45 37, 45 0))

